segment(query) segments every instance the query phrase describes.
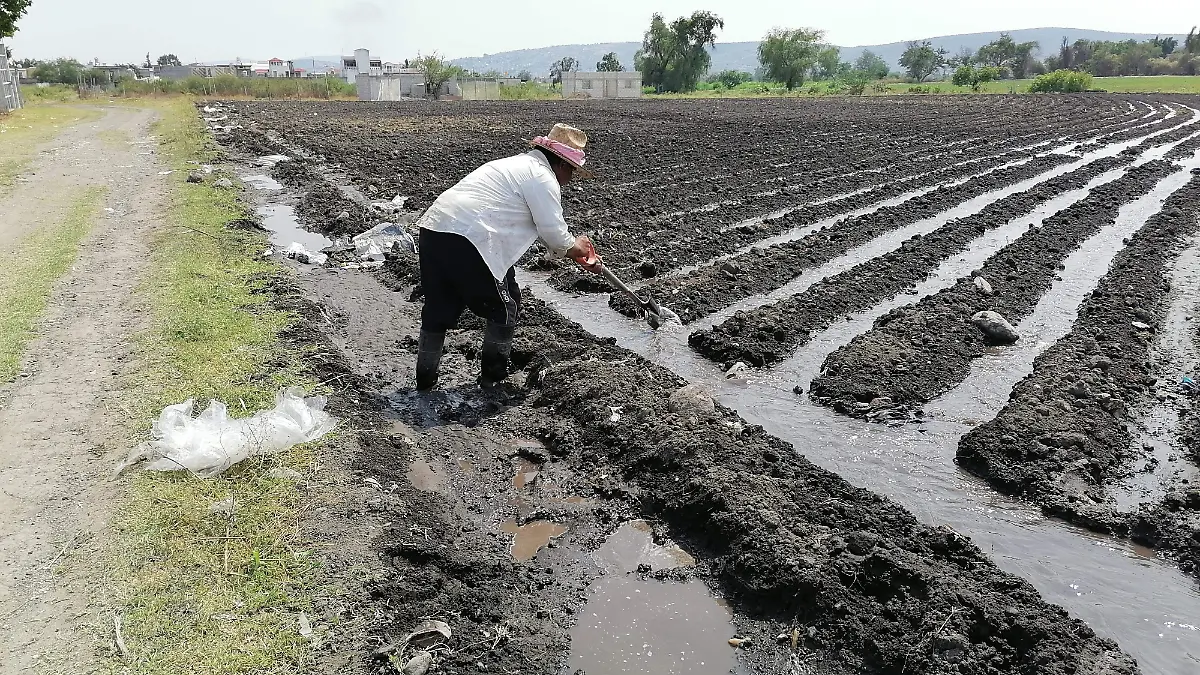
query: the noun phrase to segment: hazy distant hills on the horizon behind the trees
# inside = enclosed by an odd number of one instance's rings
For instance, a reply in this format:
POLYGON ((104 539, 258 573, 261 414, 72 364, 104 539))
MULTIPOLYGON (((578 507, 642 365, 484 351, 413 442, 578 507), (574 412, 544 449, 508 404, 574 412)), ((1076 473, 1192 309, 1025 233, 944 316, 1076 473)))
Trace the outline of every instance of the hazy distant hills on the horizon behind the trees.
MULTIPOLYGON (((1038 56, 1045 58, 1058 49, 1063 36, 1069 42, 1076 40, 1150 40, 1154 34, 1145 32, 1109 32, 1104 30, 1087 30, 1078 28, 1031 28, 1022 30, 1004 31, 1018 42, 1037 42, 1039 46, 1038 56)), ((971 32, 965 35, 943 35, 929 37, 934 47, 941 47, 950 54, 956 54, 962 47, 972 50, 1000 37, 1001 31, 995 32, 971 32)), ((1171 34, 1160 34, 1166 37, 1171 34)), ((1183 36, 1176 35, 1182 42, 1183 36)), ((601 44, 560 44, 557 47, 541 47, 538 49, 518 49, 516 52, 502 52, 498 54, 485 54, 466 59, 455 59, 455 64, 476 72, 497 70, 510 74, 517 74, 528 70, 534 76, 545 76, 550 72, 550 66, 564 56, 574 56, 581 64, 581 70, 590 70, 608 52, 616 52, 617 58, 628 70, 634 67, 634 54, 642 46, 641 42, 607 42, 601 44)), ((858 47, 841 47, 841 59, 853 61, 870 49, 887 61, 892 70, 900 70, 900 55, 907 47, 905 42, 892 42, 888 44, 863 44, 858 47)), ((758 43, 757 42, 718 42, 713 54, 712 72, 724 70, 737 70, 754 72, 758 67, 758 43)))

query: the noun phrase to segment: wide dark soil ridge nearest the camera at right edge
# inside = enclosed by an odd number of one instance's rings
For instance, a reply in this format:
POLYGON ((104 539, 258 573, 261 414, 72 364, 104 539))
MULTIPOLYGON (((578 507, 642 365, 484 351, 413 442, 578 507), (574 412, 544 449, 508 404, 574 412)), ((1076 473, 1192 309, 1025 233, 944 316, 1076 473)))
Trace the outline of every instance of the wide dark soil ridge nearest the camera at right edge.
POLYGON ((1200 177, 1129 239, 1070 333, 1038 356, 1009 404, 958 450, 961 466, 997 489, 1090 528, 1175 550, 1184 571, 1200 563, 1200 542, 1192 538, 1200 485, 1174 485, 1162 503, 1136 514, 1123 513, 1110 488, 1138 458, 1132 423, 1158 393, 1151 346, 1166 317, 1165 276, 1200 231, 1198 217, 1200 177))

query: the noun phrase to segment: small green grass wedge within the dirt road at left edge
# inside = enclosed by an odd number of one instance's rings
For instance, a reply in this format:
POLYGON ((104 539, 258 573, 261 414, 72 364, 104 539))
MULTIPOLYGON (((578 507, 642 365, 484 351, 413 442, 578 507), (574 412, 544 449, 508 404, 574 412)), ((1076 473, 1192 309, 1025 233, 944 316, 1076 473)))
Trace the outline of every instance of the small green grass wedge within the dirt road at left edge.
POLYGON ((17 376, 54 282, 76 261, 79 241, 91 229, 103 196, 102 187, 82 191, 61 222, 34 232, 0 255, 0 382, 17 376))

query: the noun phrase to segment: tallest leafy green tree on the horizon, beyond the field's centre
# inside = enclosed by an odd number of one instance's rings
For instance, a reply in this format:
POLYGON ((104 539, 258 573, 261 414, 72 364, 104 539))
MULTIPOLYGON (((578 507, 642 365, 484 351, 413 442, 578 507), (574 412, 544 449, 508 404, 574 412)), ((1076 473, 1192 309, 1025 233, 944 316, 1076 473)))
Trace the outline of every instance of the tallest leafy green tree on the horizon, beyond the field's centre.
POLYGON ((692 12, 667 25, 654 14, 634 56, 642 82, 659 91, 691 91, 713 62, 709 48, 716 48, 716 31, 725 20, 713 12, 692 12))

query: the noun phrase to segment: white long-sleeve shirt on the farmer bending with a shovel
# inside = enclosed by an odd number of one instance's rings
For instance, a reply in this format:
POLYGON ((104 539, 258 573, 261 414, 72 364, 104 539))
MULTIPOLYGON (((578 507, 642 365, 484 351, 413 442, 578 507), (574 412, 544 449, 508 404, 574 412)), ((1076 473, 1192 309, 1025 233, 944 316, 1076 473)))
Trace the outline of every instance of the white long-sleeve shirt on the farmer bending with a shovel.
POLYGON ((541 238, 558 255, 575 245, 563 220, 563 193, 538 150, 487 162, 433 202, 418 221, 434 232, 461 234, 503 280, 541 238))

